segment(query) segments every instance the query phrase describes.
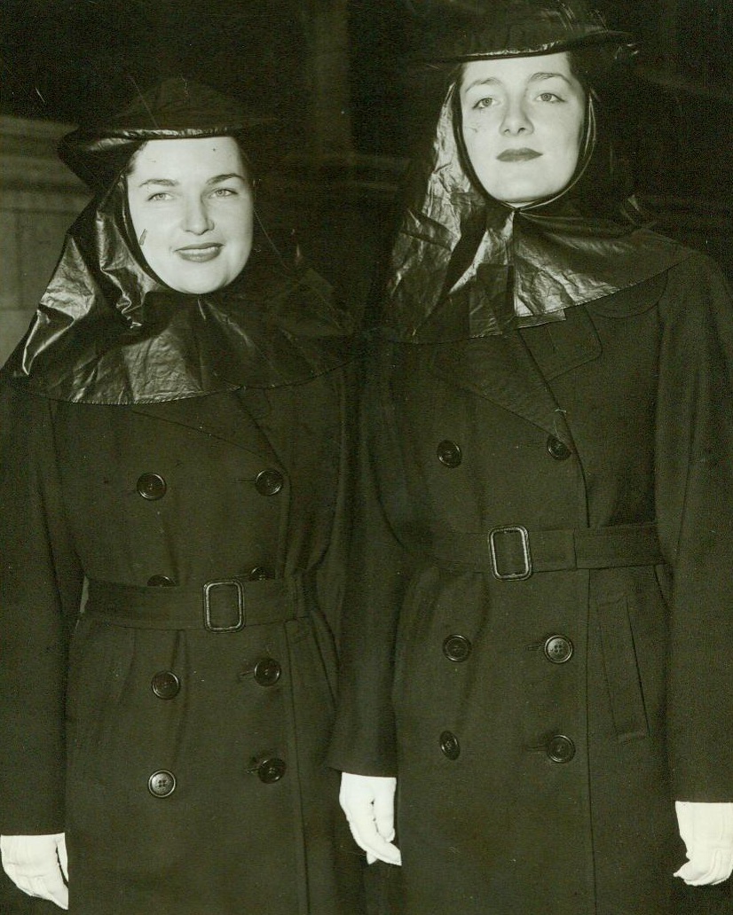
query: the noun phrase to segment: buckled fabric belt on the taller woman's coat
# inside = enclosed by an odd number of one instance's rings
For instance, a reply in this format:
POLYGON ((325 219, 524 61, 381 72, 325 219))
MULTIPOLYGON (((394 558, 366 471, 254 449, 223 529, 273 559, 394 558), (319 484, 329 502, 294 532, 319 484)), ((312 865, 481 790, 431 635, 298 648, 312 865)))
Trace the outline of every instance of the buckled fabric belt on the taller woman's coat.
POLYGON ((506 524, 486 533, 440 532, 432 538, 438 565, 491 572, 501 581, 535 572, 602 569, 664 562, 655 524, 528 531, 506 524))

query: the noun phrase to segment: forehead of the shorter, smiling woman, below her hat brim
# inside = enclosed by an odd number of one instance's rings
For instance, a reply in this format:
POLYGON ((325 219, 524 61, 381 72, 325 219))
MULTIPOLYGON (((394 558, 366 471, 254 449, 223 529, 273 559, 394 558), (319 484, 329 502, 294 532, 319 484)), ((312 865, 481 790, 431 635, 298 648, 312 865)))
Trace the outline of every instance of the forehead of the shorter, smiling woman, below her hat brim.
POLYGON ((148 140, 130 163, 132 178, 211 177, 225 173, 245 175, 239 146, 233 136, 148 140))

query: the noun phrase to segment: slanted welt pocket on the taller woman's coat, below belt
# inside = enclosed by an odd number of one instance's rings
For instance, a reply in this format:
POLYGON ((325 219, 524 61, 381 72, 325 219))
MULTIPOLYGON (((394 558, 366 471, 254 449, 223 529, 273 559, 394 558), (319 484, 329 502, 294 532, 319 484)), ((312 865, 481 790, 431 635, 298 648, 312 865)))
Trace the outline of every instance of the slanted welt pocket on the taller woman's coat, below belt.
POLYGON ((626 597, 598 603, 601 652, 616 736, 619 741, 649 734, 634 633, 626 597))

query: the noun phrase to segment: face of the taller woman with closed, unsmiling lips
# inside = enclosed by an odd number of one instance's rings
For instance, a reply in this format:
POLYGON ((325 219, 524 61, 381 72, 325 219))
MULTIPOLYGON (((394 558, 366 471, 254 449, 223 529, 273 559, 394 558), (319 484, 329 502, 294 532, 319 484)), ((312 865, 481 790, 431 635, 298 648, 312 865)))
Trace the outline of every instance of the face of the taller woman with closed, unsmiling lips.
POLYGON ((520 207, 566 187, 585 119, 567 54, 472 60, 460 102, 465 147, 487 194, 520 207))

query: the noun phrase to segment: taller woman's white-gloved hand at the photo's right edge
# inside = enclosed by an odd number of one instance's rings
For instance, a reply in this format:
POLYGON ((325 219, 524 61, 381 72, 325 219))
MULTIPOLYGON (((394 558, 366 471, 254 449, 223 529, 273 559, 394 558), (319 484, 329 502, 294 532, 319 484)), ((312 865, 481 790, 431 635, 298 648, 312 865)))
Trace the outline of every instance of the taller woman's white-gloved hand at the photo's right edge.
POLYGON ((687 863, 675 873, 691 887, 722 883, 733 871, 733 803, 676 801, 687 863))

